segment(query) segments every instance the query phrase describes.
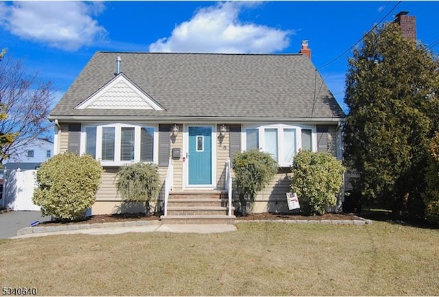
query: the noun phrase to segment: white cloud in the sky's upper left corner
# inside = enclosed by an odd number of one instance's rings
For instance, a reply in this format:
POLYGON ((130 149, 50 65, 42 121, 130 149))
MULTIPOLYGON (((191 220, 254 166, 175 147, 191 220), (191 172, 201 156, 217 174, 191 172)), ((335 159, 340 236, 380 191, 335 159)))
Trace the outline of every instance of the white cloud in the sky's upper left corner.
POLYGON ((0 25, 23 39, 75 51, 106 35, 93 19, 102 10, 99 2, 18 1, 0 4, 0 25))

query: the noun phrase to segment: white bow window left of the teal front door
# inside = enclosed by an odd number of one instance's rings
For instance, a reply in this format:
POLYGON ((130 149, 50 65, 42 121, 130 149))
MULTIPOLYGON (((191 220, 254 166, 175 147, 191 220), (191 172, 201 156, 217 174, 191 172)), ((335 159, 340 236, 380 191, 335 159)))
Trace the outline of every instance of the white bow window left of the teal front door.
POLYGON ((82 152, 101 160, 102 165, 156 162, 158 136, 155 126, 115 123, 85 126, 82 152))

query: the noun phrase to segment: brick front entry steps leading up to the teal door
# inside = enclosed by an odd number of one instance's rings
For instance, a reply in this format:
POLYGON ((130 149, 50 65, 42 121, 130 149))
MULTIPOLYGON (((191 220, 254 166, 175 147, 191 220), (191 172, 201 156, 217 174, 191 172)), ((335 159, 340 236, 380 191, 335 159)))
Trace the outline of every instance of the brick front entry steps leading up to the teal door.
POLYGON ((228 216, 227 193, 222 191, 171 191, 162 224, 235 224, 228 216))

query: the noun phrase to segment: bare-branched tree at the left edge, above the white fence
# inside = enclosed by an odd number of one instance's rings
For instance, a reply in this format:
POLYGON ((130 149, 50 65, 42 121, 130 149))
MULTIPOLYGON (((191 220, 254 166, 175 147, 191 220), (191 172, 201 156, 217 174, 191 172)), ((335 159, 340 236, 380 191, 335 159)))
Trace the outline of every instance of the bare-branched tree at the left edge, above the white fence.
POLYGON ((23 152, 25 145, 47 136, 51 129, 47 116, 54 91, 50 82, 38 80, 38 73, 29 75, 20 60, 0 54, 0 102, 5 115, 0 120, 0 164, 12 154, 23 152), (13 136, 13 137, 12 137, 13 136))

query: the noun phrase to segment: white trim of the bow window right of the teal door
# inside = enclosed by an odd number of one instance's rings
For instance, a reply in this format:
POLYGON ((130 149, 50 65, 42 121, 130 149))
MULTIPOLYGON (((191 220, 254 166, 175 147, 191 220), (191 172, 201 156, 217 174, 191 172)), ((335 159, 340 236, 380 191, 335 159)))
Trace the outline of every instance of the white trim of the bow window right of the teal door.
MULTIPOLYGON (((265 143, 265 134, 263 133, 263 131, 266 128, 275 128, 277 129, 277 141, 278 141, 278 145, 277 145, 277 155, 278 158, 281 158, 282 154, 281 152, 283 151, 283 133, 281 133, 281 129, 295 129, 296 130, 296 153, 298 152, 298 150, 300 150, 302 148, 302 129, 304 130, 311 130, 311 146, 312 146, 312 151, 316 152, 317 151, 317 128, 316 126, 309 126, 309 125, 302 125, 302 124, 285 124, 285 123, 276 123, 276 124, 272 124, 272 123, 256 123, 256 124, 252 124, 252 125, 246 125, 246 126, 242 126, 241 129, 241 151, 244 152, 247 150, 247 133, 246 130, 247 129, 257 129, 258 130, 258 134, 259 134, 259 150, 264 151, 264 147, 263 147, 263 143, 265 143)), ((289 167, 292 165, 292 163, 278 163, 278 165, 280 167, 289 167)))

